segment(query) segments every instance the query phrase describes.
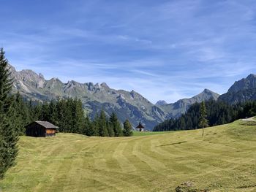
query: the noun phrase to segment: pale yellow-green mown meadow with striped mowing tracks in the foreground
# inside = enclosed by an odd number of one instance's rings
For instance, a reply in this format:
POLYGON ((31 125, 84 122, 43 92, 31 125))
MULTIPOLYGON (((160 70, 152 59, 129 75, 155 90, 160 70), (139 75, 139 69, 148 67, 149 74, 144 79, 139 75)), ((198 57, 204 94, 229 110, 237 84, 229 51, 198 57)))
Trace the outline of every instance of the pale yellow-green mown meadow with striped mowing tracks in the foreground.
POLYGON ((256 126, 141 137, 21 137, 0 191, 256 191, 256 126))

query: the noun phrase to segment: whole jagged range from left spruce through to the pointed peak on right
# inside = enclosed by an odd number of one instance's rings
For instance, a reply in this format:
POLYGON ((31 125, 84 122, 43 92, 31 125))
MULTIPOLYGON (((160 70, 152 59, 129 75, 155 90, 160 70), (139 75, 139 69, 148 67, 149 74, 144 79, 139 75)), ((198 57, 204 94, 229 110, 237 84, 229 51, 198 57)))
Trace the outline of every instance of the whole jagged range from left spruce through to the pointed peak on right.
POLYGON ((152 104, 136 91, 115 90, 105 82, 94 84, 70 80, 64 83, 58 78, 45 80, 42 74, 32 70, 18 72, 13 66, 10 66, 10 70, 14 79, 13 92, 19 91, 25 99, 50 101, 58 98, 78 98, 83 102, 83 108, 91 118, 100 110, 104 110, 107 115, 116 112, 121 122, 129 119, 133 127, 141 122, 148 130, 152 130, 167 118, 178 118, 195 102, 217 100, 219 97, 219 94, 205 89, 197 96, 181 99, 173 104, 167 104, 165 101, 152 104))

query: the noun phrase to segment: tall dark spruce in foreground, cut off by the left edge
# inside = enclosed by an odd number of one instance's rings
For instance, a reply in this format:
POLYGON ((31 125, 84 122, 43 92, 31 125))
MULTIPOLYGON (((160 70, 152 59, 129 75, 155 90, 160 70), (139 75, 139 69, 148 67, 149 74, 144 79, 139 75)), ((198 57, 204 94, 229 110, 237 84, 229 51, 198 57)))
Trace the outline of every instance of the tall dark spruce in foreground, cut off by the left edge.
POLYGON ((8 61, 4 57, 4 49, 0 49, 0 178, 4 172, 14 165, 18 153, 18 128, 12 110, 13 96, 12 78, 8 61))

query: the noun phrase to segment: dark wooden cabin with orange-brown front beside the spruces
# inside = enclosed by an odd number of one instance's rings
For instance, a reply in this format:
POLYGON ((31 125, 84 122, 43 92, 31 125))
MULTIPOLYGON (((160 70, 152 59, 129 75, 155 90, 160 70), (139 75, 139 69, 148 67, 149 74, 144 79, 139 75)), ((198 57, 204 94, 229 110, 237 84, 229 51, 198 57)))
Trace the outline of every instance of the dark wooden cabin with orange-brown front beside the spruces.
POLYGON ((56 135, 57 128, 59 127, 48 121, 34 121, 26 126, 26 135, 31 137, 53 137, 56 135))

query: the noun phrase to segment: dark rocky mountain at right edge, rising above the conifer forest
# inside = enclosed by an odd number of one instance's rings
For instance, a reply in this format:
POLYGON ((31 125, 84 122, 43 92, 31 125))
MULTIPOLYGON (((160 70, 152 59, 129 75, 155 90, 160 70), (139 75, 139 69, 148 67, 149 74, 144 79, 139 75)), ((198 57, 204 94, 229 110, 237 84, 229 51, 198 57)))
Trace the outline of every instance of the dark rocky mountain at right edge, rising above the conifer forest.
POLYGON ((256 100, 256 75, 249 74, 248 77, 236 81, 218 100, 228 104, 256 100))

